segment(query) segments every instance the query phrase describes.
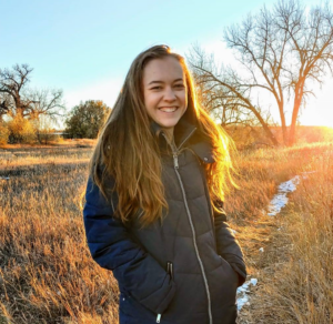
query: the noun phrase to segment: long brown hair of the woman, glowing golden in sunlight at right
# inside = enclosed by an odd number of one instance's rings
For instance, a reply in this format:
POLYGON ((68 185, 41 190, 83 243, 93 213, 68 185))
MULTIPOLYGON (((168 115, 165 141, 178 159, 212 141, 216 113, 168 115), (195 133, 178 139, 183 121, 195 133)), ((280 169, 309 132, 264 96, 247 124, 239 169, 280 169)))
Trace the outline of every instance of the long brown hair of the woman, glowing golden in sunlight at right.
POLYGON ((143 69, 147 63, 165 57, 175 58, 182 65, 188 85, 188 110, 194 115, 199 131, 206 135, 213 145, 215 162, 206 165, 208 185, 213 204, 223 199, 228 180, 232 180, 229 139, 196 102, 193 80, 184 59, 171 52, 168 45, 155 45, 143 51, 130 67, 122 91, 100 131, 90 161, 90 175, 102 194, 107 199, 110 199, 111 191, 118 194, 114 216, 127 222, 138 216, 140 211, 143 226, 160 219, 163 207, 168 210, 161 180, 159 146, 155 134, 151 131, 151 120, 144 107, 142 91, 143 69), (105 183, 109 175, 114 179, 111 191, 105 183))

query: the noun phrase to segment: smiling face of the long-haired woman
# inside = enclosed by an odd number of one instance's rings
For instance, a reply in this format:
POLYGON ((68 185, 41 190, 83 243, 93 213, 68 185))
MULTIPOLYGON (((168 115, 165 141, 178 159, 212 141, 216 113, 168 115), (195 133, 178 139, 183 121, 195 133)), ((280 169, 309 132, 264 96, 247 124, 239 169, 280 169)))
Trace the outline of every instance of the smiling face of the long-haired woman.
POLYGON ((180 62, 173 57, 153 59, 143 69, 144 105, 150 118, 172 136, 188 108, 188 87, 180 62))

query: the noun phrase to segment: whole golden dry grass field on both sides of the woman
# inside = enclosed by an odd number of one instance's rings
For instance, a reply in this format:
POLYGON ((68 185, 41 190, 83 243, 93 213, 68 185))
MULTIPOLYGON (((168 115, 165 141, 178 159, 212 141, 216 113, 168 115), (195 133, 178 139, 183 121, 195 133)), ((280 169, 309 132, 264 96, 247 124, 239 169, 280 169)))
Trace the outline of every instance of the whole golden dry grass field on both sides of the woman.
MULTIPOLYGON (((82 193, 92 142, 0 150, 0 323, 118 323, 118 287, 91 259, 82 193)), ((230 224, 259 279, 239 323, 333 323, 333 146, 239 153, 230 224), (276 185, 309 173, 275 217, 276 185), (264 247, 264 253, 259 251, 264 247)))

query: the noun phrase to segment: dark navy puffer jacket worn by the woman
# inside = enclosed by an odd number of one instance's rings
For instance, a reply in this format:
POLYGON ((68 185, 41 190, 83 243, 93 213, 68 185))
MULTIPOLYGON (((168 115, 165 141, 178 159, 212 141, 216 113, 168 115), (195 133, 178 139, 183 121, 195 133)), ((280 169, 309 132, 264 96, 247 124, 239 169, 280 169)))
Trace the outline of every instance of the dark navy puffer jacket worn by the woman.
POLYGON ((123 224, 113 217, 117 194, 108 202, 88 180, 88 244, 119 282, 121 324, 235 323, 245 264, 225 214, 212 211, 202 168, 214 161, 211 145, 184 117, 174 130, 173 154, 163 133, 159 136, 169 204, 163 222, 144 229, 138 219, 123 224))

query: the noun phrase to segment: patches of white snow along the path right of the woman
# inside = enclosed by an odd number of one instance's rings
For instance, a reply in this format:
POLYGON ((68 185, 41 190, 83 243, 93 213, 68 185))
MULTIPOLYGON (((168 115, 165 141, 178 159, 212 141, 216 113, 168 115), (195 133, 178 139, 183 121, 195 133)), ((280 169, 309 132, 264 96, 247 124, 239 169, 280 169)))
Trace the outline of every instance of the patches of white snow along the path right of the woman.
MULTIPOLYGON (((314 173, 315 171, 311 172, 302 172, 301 176, 296 175, 293 179, 281 183, 278 186, 278 193, 273 196, 272 201, 268 206, 268 215, 275 216, 278 215, 281 210, 287 204, 287 193, 293 192, 296 190, 297 185, 300 184, 301 178, 307 179, 309 173, 314 173)), ((280 229, 279 229, 280 230, 280 229)), ((263 252, 263 247, 260 249, 263 252)), ((248 293, 250 292, 250 286, 255 286, 258 280, 252 277, 251 280, 246 281, 242 286, 238 288, 238 311, 240 312, 244 305, 250 305, 250 296, 248 293)))

